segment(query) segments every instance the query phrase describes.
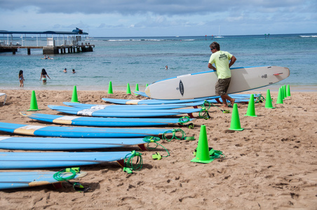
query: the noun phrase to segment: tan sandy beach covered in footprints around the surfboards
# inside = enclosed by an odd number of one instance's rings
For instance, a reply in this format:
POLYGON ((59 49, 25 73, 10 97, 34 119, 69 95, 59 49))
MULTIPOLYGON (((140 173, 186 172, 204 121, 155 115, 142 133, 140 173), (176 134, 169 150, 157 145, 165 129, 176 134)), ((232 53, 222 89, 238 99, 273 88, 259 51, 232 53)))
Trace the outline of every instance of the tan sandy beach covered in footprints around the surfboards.
MULTIPOLYGON (((21 116, 20 111, 29 109, 31 90, 0 92, 8 96, 5 105, 4 97, 0 97, 0 122, 67 126, 21 116)), ((261 93, 266 97, 264 91, 243 93, 261 93)), ((144 98, 124 91, 114 91, 114 94, 78 91, 77 94, 79 101, 86 104, 106 104, 102 97, 144 98)), ((271 92, 274 106, 277 95, 278 92, 271 92)), ((77 181, 91 187, 87 193, 76 192, 68 183, 59 189, 48 185, 1 190, 0 209, 316 209, 316 98, 317 92, 291 92, 291 97, 284 104, 276 104, 276 109, 266 109, 265 103, 255 104, 257 117, 245 116, 248 104, 238 104, 243 131, 229 130, 231 113, 212 107, 209 120, 197 118, 193 130, 181 128, 188 137, 195 137, 195 141, 160 141, 170 153, 168 158, 151 158, 155 152, 166 155, 161 148, 112 149, 139 151, 144 161, 142 169, 127 174, 116 162, 81 167, 88 175, 77 181), (222 151, 225 158, 208 164, 191 162, 201 125, 206 126, 208 145, 222 151)), ((61 115, 47 105, 70 102, 72 91, 36 90, 36 99, 41 109, 37 113, 61 115)), ((21 137, 6 132, 0 132, 0 136, 21 137)), ((60 168, 36 169, 46 170, 60 168)))

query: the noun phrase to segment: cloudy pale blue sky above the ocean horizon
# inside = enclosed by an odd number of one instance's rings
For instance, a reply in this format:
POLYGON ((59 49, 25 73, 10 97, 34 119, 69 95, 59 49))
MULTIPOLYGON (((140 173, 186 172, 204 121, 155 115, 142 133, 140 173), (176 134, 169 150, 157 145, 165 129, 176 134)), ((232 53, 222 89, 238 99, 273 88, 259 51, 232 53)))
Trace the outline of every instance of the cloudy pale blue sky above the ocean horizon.
POLYGON ((0 30, 91 37, 317 33, 316 0, 0 0, 0 30))

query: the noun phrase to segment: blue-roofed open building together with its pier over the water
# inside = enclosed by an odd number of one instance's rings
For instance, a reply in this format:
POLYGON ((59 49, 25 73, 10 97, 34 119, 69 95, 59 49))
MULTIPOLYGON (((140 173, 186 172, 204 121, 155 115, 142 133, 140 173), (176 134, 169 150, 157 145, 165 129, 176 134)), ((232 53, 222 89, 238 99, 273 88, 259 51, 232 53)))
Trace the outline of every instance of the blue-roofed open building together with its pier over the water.
POLYGON ((83 43, 82 36, 87 32, 76 28, 73 31, 5 31, 0 30, 0 52, 17 52, 26 48, 43 49, 43 54, 92 52, 95 45, 83 43), (2 36, 1 36, 2 34, 2 36), (16 36, 18 35, 18 36, 16 36))

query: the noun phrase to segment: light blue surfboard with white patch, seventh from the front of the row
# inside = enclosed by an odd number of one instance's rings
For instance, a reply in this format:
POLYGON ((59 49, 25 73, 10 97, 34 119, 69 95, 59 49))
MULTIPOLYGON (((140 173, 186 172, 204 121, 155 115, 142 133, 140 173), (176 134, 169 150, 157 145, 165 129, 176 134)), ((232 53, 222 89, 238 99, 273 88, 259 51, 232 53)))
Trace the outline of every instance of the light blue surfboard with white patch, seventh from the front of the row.
POLYGON ((101 104, 81 104, 73 102, 63 102, 66 106, 72 106, 76 108, 85 108, 85 109, 104 109, 105 111, 116 111, 116 110, 155 110, 155 109, 180 109, 186 108, 187 106, 200 106, 201 103, 188 103, 188 104, 158 104, 158 105, 101 105, 101 104))

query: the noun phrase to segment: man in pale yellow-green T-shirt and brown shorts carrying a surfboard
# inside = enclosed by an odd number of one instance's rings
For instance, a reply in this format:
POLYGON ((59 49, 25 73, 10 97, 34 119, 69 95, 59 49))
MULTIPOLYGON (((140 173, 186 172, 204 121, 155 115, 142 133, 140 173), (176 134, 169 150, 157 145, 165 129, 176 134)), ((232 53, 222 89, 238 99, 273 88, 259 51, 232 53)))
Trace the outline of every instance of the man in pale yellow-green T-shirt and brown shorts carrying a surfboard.
POLYGON ((215 93, 222 98, 222 108, 227 108, 227 100, 231 102, 231 105, 234 105, 235 100, 229 97, 227 91, 231 80, 230 67, 236 62, 236 57, 229 52, 221 51, 220 44, 215 41, 210 44, 210 50, 213 54, 210 56, 208 68, 217 71, 218 76, 217 83, 215 84, 215 93))

